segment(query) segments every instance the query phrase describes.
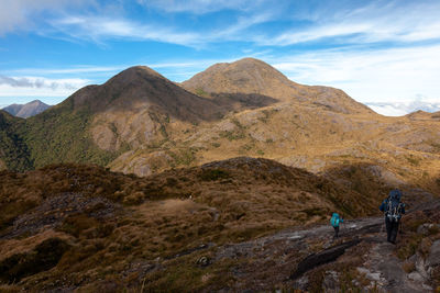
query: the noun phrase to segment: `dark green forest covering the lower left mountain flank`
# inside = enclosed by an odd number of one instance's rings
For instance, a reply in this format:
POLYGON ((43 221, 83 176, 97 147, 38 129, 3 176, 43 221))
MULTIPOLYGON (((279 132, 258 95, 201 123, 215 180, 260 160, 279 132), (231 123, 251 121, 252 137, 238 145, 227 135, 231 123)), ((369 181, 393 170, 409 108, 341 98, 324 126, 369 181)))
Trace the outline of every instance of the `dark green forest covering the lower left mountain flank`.
POLYGON ((107 165, 119 154, 99 149, 88 135, 92 112, 75 110, 73 99, 28 120, 0 115, 0 159, 24 171, 53 162, 107 165))

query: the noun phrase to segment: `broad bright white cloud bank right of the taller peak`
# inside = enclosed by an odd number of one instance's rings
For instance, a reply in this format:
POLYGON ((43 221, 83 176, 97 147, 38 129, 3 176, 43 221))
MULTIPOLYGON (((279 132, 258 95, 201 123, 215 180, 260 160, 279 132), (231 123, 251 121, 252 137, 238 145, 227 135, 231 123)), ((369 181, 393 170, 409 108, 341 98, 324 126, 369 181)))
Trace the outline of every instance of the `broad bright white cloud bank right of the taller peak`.
POLYGON ((439 99, 440 45, 323 50, 268 59, 292 80, 346 91, 361 102, 439 99))

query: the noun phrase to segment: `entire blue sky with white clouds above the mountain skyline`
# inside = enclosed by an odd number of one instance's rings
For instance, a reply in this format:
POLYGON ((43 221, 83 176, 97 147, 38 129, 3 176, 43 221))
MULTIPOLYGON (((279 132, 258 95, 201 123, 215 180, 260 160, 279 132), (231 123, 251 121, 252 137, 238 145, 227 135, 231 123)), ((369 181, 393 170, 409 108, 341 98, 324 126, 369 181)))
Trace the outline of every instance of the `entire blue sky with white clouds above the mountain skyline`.
POLYGON ((258 58, 384 115, 440 111, 439 0, 0 0, 0 108, 134 65, 184 81, 258 58))

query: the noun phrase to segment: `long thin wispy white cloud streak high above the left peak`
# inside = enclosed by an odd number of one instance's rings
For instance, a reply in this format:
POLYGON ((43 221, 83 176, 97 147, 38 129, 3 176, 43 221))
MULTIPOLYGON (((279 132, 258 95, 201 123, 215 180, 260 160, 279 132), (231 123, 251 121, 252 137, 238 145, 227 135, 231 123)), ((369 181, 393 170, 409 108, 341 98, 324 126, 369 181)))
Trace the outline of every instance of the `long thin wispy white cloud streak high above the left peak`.
MULTIPOLYGON (((143 23, 123 18, 66 16, 51 21, 52 27, 76 40, 102 43, 107 40, 155 41, 189 47, 205 47, 210 43, 249 41, 243 33, 252 26, 271 21, 271 12, 239 16, 237 21, 210 31, 185 31, 162 24, 143 23)), ((53 33, 53 31, 51 31, 53 33)))

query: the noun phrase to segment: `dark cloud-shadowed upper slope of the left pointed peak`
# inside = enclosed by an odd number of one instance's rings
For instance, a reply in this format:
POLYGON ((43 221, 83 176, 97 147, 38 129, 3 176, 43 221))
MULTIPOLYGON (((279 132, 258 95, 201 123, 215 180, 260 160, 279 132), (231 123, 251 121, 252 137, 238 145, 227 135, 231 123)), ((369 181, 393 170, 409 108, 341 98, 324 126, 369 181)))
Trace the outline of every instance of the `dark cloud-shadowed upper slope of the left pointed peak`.
POLYGON ((102 86, 87 87, 69 99, 74 109, 87 108, 94 113, 156 106, 168 115, 189 122, 212 120, 221 112, 211 101, 174 84, 145 66, 135 66, 112 77, 102 86))

